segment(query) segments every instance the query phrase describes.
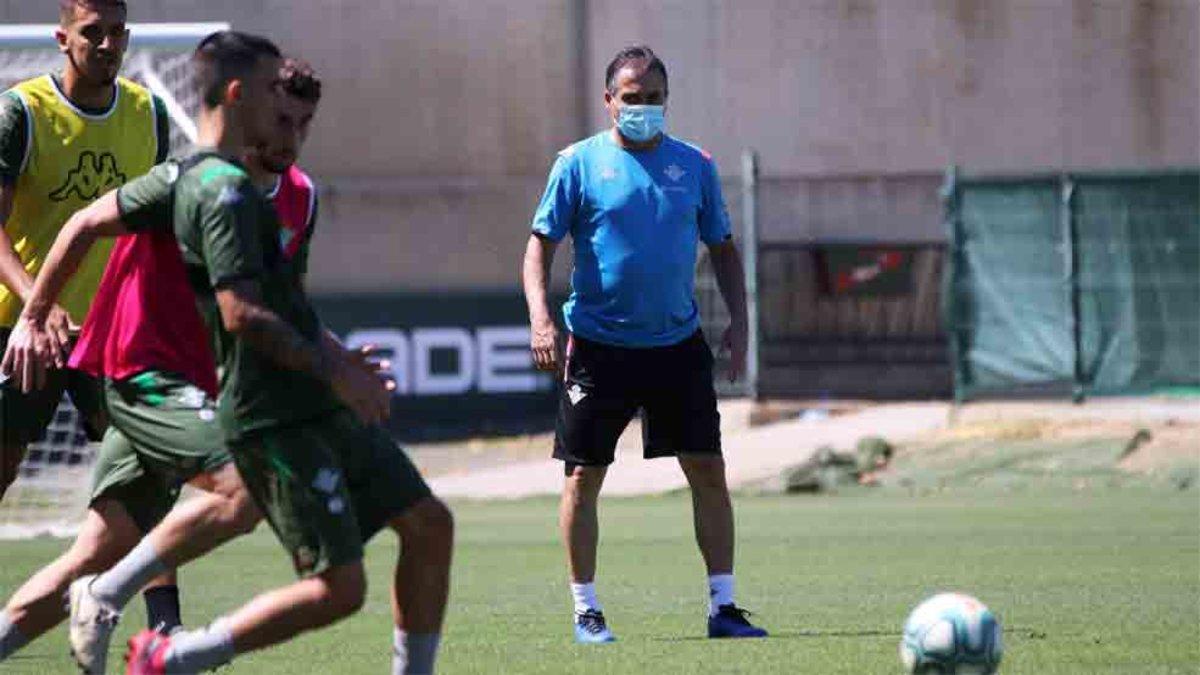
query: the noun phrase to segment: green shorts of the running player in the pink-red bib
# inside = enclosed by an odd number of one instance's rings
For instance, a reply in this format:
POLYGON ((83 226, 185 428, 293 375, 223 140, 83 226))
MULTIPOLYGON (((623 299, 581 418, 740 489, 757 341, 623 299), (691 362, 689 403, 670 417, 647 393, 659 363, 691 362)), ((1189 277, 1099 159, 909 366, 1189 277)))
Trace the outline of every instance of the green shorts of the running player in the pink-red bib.
POLYGON ((233 458, 216 420, 216 404, 186 380, 146 371, 108 381, 112 425, 92 470, 91 501, 121 502, 143 532, 174 506, 184 483, 233 458))

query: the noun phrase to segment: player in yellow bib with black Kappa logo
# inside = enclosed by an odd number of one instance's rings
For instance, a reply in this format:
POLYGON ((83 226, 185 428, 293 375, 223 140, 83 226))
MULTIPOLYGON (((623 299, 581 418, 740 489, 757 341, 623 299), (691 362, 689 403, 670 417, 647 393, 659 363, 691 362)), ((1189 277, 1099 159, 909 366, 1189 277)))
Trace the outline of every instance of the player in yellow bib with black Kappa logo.
MULTIPOLYGON (((128 44, 122 0, 60 0, 55 37, 60 73, 22 82, 0 96, 0 350, 34 287, 54 235, 92 199, 167 159, 167 108, 145 88, 118 77, 128 44)), ((65 365, 70 329, 83 322, 109 246, 97 246, 62 292, 48 323, 55 365, 65 365)), ((102 387, 62 368, 22 388, 0 387, 0 497, 17 478, 29 443, 46 431, 64 392, 88 436, 106 425, 102 387)), ((158 584, 160 586, 162 583, 158 584)), ((152 625, 178 625, 169 589, 146 593, 152 625)), ((28 635, 0 614, 0 661, 28 635)))

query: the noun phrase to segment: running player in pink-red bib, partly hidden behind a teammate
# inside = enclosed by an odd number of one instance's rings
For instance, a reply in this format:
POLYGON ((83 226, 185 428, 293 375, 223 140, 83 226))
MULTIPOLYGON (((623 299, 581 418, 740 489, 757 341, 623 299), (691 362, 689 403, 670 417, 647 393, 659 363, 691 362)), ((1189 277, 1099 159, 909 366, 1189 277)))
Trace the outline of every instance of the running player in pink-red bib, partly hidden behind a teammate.
MULTIPOLYGON (((270 191, 283 225, 283 256, 302 274, 317 195, 294 162, 320 83, 311 67, 289 60, 280 88, 284 96, 272 135, 247 153, 246 166, 270 191)), ((65 617, 59 598, 70 584, 72 653, 88 673, 103 673, 120 611, 148 579, 164 572, 155 565, 156 556, 143 554, 145 546, 167 549, 175 534, 190 546, 215 548, 250 531, 260 518, 217 429, 216 366, 186 275, 173 234, 142 232, 116 240, 70 362, 108 383, 112 429, 94 467, 89 516, 74 545, 8 605, 32 639, 65 617), (157 531, 157 538, 133 549, 112 571, 91 574, 103 569, 95 561, 130 552, 170 510, 185 482, 209 494, 180 507, 173 520, 179 526, 157 531)), ((14 347, 18 341, 19 335, 14 347)), ((154 592, 170 593, 178 603, 174 586, 154 592)), ((175 616, 173 626, 178 611, 175 616)))

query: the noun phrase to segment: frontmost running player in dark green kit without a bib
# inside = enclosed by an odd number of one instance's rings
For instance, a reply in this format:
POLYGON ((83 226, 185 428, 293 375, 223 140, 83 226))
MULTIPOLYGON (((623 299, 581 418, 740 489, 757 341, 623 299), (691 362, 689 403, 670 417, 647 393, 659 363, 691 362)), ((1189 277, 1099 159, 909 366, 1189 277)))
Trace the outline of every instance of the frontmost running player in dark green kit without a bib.
MULTIPOLYGON (((389 392, 322 329, 283 257, 275 210, 235 159, 271 135, 278 52, 263 38, 227 31, 202 42, 193 65, 205 149, 155 167, 72 217, 25 307, 29 339, 17 353, 10 348, 5 364, 44 358, 49 304, 95 238, 174 233, 223 370, 216 416, 245 485, 302 579, 208 629, 139 633, 130 643, 128 671, 208 670, 353 614, 366 586, 362 546, 383 527, 400 534, 402 551, 392 592, 394 669, 432 671, 449 590, 450 512, 378 425, 389 392)), ((146 565, 164 568, 203 552, 187 540, 176 544, 138 551, 146 565)))

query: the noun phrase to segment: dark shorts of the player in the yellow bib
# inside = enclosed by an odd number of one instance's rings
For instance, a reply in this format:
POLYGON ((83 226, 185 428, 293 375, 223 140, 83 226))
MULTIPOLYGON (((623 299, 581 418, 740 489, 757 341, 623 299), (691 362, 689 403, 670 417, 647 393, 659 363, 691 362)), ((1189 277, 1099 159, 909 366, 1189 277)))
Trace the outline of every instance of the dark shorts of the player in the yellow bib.
MULTIPOLYGON (((11 329, 0 328, 0 354, 8 345, 11 329)), ((28 446, 41 440, 46 428, 54 419, 62 394, 71 395, 71 402, 83 418, 88 438, 98 441, 104 434, 106 419, 103 387, 100 382, 78 370, 54 369, 48 371, 46 387, 23 394, 14 380, 0 387, 0 440, 2 444, 28 446)))

